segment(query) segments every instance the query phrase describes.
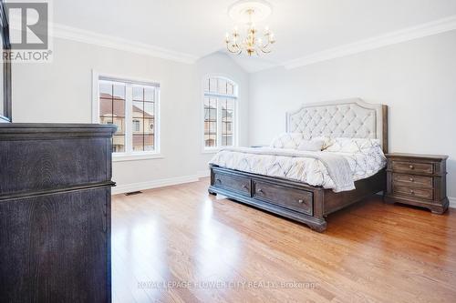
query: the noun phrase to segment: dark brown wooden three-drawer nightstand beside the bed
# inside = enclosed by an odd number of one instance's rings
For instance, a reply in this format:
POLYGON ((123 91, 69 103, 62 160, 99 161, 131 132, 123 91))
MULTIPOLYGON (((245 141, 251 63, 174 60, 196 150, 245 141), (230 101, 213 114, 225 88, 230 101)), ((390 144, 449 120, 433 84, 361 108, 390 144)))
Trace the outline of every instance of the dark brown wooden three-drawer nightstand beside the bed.
POLYGON ((386 157, 386 202, 426 207, 435 214, 447 210, 448 156, 393 153, 386 157))

